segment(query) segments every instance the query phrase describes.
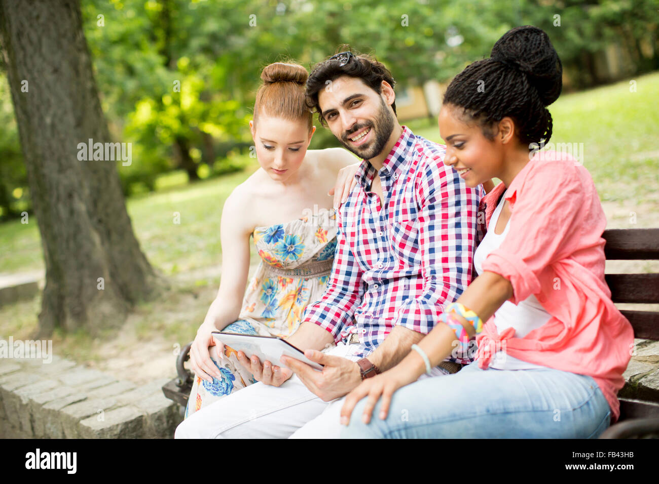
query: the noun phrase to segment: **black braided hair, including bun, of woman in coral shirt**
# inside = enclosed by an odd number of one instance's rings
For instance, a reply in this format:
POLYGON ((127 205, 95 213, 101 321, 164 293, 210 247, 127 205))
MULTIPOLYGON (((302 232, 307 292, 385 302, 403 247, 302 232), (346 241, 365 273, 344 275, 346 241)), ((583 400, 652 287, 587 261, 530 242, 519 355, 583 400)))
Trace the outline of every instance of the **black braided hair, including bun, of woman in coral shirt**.
POLYGON ((504 117, 515 121, 523 144, 548 142, 552 115, 546 106, 561 94, 563 67, 549 36, 540 28, 509 30, 494 44, 492 57, 476 61, 457 74, 444 94, 444 104, 463 109, 478 122, 486 138, 504 117))

